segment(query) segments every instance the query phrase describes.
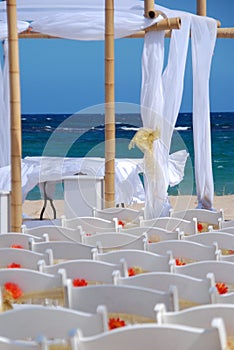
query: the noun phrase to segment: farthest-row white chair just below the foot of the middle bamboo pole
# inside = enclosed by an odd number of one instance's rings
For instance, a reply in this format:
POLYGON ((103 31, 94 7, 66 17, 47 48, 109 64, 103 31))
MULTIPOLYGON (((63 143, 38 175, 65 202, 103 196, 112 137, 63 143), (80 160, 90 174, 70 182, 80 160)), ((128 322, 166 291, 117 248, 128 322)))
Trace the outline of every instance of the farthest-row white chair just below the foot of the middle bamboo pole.
POLYGON ((139 218, 144 216, 143 210, 135 210, 131 208, 93 208, 93 216, 105 220, 113 220, 117 218, 122 221, 124 226, 128 224, 139 224, 139 218))

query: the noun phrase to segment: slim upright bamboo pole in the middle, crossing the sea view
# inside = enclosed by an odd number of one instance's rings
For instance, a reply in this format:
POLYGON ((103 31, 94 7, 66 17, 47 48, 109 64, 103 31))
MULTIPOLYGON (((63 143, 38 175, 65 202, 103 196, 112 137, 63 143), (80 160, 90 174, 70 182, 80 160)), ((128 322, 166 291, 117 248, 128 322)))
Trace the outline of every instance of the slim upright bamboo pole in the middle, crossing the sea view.
POLYGON ((105 0, 105 207, 115 206, 114 0, 105 0))

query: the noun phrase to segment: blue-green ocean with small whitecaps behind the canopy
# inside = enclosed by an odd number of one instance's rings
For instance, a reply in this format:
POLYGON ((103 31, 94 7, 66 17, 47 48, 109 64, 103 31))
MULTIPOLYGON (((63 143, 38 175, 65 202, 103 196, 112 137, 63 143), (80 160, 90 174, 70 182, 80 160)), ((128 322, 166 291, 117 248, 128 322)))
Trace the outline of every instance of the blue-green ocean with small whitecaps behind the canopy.
MULTIPOLYGON (((22 115, 22 153, 27 156, 104 157, 105 117, 103 114, 24 114, 22 115)), ((139 113, 116 114, 116 158, 142 158, 139 149, 128 149, 142 126, 139 113)), ((234 194, 234 112, 211 113, 212 166, 216 195, 234 194)), ((169 188, 170 195, 196 193, 192 114, 177 119, 171 152, 187 149, 189 159, 181 184, 169 188)), ((57 198, 62 197, 62 188, 57 198)), ((38 188, 27 199, 40 199, 38 188)))

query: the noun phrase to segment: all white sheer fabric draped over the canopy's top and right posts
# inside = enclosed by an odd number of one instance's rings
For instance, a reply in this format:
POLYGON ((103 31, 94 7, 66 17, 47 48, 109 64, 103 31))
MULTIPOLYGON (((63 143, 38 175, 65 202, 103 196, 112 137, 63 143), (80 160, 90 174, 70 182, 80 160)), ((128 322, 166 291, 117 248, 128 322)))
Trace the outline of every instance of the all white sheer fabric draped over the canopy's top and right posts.
MULTIPOLYGON (((5 6, 5 1, 0 2, 0 20, 2 21, 6 20, 5 6)), ((161 16, 155 19, 145 18, 143 1, 118 0, 114 1, 114 6, 115 38, 133 34, 162 19, 161 16)), ((170 208, 168 186, 180 183, 184 175, 187 152, 181 150, 171 155, 169 152, 183 95, 190 30, 198 207, 212 209, 214 193, 210 145, 209 74, 217 24, 211 18, 155 6, 169 18, 179 16, 182 19, 182 26, 180 30, 172 31, 165 69, 163 69, 164 32, 148 32, 145 36, 142 55, 141 116, 144 127, 160 129, 160 138, 154 141, 152 165, 145 162, 145 217, 147 219, 168 215, 170 208)), ((18 20, 30 21, 30 27, 34 31, 76 40, 104 39, 104 8, 104 0, 17 1, 18 20)), ((0 75, 0 85, 3 86, 1 78, 0 75)), ((0 99, 3 99, 2 91, 4 88, 0 87, 0 99)), ((3 115, 5 112, 1 111, 1 113, 3 115)))

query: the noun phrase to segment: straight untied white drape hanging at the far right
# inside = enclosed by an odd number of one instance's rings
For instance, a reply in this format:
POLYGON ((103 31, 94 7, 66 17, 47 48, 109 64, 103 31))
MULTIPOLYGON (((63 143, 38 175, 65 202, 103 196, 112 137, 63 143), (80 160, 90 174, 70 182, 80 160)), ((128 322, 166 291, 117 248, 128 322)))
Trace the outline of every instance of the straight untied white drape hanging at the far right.
POLYGON ((211 159, 209 76, 216 41, 213 19, 192 17, 193 133, 198 208, 212 209, 214 186, 211 159))

